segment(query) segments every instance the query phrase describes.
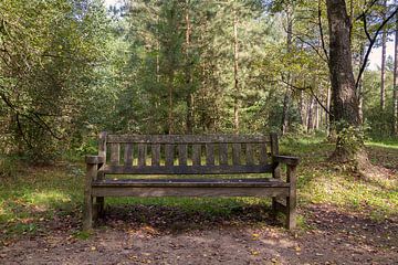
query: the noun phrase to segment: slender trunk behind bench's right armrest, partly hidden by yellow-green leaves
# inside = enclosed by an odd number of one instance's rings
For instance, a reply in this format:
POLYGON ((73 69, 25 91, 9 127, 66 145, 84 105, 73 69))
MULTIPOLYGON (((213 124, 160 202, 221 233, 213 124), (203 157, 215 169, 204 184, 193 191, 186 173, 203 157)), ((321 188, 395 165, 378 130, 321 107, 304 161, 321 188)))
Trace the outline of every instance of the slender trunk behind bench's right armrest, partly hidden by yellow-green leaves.
MULTIPOLYGON (((291 4, 289 4, 287 10, 286 10, 286 18, 287 18, 287 39, 286 39, 286 50, 287 50, 287 54, 291 52, 292 50, 292 32, 293 32, 293 8, 291 4)), ((283 110, 282 110, 282 126, 281 126, 281 131, 282 135, 287 132, 287 127, 289 127, 289 110, 290 110, 290 105, 291 105, 291 85, 292 83, 292 76, 291 73, 287 73, 287 80, 286 80, 286 91, 285 91, 285 95, 283 98, 283 110)))

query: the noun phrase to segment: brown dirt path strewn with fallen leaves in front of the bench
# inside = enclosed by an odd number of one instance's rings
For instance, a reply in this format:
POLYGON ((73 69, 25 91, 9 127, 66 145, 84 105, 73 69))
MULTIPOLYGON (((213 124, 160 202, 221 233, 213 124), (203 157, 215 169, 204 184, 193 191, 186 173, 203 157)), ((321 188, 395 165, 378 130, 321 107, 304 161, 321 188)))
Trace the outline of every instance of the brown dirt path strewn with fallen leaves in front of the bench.
POLYGON ((53 221, 46 233, 3 246, 0 264, 398 264, 396 220, 377 223, 328 205, 301 210, 308 227, 296 233, 259 222, 256 209, 239 221, 133 210, 113 209, 88 240, 71 235, 78 223, 53 221))

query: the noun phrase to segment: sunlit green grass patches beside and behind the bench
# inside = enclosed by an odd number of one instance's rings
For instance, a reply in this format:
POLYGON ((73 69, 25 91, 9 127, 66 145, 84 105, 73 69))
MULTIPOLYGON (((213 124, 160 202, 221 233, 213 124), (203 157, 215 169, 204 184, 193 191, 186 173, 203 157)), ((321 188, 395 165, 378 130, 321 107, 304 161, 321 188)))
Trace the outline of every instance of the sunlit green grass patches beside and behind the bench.
MULTIPOLYGON (((398 214, 398 141, 369 141, 371 161, 395 170, 390 178, 371 182, 346 173, 326 162, 334 146, 321 138, 287 139, 281 152, 301 158, 298 168, 300 208, 312 203, 328 203, 349 212, 365 212, 375 219, 398 214)), ((13 178, 1 178, 1 237, 43 232, 45 224, 62 216, 72 216, 76 237, 83 200, 83 165, 52 168, 28 168, 13 178), (74 220, 74 221, 73 221, 74 220)), ((189 198, 109 198, 107 203, 176 206, 185 212, 201 212, 212 216, 229 216, 247 205, 269 205, 269 199, 189 199, 189 198)), ((67 219, 69 220, 69 219, 67 219)), ((304 225, 303 216, 300 223, 304 225)))

